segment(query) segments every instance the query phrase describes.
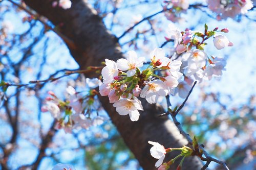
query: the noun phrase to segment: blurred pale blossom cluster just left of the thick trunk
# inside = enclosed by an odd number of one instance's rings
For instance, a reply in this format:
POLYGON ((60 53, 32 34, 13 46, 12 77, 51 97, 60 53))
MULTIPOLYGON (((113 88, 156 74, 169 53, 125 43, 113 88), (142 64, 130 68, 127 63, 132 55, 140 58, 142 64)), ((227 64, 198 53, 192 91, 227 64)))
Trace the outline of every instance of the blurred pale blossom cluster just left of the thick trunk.
POLYGON ((49 91, 46 104, 42 106, 42 112, 50 112, 56 118, 55 129, 64 129, 66 133, 71 133, 72 129, 88 129, 91 126, 101 125, 105 117, 98 115, 99 103, 96 99, 97 91, 94 89, 101 83, 98 79, 88 79, 87 85, 90 88, 86 94, 77 92, 72 86, 66 88, 67 99, 62 101, 54 92, 49 91), (92 118, 91 113, 97 115, 92 118))

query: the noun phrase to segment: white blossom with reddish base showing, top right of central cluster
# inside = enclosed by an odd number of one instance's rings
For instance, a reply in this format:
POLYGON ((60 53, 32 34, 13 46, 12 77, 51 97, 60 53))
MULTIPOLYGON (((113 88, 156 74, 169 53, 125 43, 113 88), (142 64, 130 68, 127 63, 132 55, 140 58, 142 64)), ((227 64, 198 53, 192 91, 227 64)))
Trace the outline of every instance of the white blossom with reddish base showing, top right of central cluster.
POLYGON ((166 66, 170 60, 169 58, 165 57, 163 48, 155 48, 150 54, 150 59, 158 68, 166 66))

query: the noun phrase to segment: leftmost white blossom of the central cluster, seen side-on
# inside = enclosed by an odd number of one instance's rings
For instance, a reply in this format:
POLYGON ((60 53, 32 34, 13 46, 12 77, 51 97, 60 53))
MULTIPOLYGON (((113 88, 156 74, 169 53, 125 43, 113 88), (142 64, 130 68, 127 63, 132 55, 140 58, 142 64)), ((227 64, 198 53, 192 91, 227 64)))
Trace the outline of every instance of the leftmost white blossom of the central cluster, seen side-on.
POLYGON ((118 76, 118 69, 115 61, 105 59, 106 66, 102 68, 101 75, 103 83, 109 84, 115 81, 114 77, 118 76))

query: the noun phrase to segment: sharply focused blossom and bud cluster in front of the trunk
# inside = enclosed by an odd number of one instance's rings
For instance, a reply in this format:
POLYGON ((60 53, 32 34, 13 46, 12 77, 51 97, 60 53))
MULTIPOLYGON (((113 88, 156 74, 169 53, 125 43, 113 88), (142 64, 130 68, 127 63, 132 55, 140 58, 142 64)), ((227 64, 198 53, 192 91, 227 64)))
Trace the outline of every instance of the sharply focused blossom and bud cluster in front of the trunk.
POLYGON ((109 96, 120 115, 130 115, 132 121, 139 119, 138 110, 143 110, 138 96, 145 98, 148 103, 156 103, 159 96, 166 96, 178 86, 181 61, 165 57, 162 48, 155 48, 150 54, 151 62, 143 67, 145 58, 137 56, 136 52, 128 52, 127 59, 117 62, 106 59, 102 69, 103 84, 99 87, 102 96, 109 96), (159 76, 157 70, 167 70, 168 76, 159 76), (126 72, 124 72, 126 71, 126 72))

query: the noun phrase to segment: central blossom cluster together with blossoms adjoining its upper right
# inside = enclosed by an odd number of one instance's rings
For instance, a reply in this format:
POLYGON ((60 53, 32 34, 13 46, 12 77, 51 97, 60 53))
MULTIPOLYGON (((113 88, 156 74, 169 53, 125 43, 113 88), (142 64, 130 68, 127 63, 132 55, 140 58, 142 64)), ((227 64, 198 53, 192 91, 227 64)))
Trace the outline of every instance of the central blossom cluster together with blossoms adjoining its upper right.
POLYGON ((214 45, 218 50, 232 45, 224 35, 217 32, 227 33, 228 29, 218 31, 215 28, 208 31, 205 25, 204 33, 188 29, 180 32, 174 25, 169 25, 165 38, 167 42, 174 42, 174 55, 168 58, 162 48, 155 48, 147 63, 146 58, 138 57, 134 51, 128 52, 126 59, 117 62, 105 59, 106 66, 101 71, 103 84, 99 86, 100 94, 108 96, 116 111, 120 115, 129 114, 132 121, 137 121, 140 116, 138 110, 143 110, 138 96, 150 104, 167 94, 179 93, 185 98, 189 85, 195 80, 201 82, 203 78, 211 79, 222 74, 225 60, 208 57, 204 51, 205 40, 210 37, 214 37, 214 45))

